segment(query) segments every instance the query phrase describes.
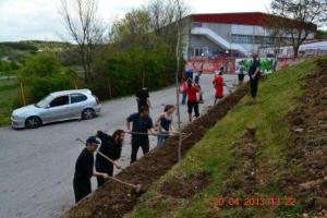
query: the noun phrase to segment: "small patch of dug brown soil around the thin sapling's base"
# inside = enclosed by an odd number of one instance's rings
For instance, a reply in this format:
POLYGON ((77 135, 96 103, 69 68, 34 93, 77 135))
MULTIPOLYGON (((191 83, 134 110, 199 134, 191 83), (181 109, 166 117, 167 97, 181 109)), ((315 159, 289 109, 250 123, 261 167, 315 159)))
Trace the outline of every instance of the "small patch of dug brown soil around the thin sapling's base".
POLYGON ((208 183, 208 173, 199 173, 189 178, 174 178, 172 181, 165 182, 159 193, 175 198, 189 198, 196 192, 204 190, 208 183))

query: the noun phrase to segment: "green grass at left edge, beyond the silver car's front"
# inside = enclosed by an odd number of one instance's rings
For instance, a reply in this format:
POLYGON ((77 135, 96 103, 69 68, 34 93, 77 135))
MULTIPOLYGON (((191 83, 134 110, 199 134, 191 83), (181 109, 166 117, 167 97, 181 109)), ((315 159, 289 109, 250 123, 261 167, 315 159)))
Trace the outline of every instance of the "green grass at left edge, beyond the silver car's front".
POLYGON ((13 102, 19 95, 16 80, 0 80, 0 126, 10 124, 13 102))

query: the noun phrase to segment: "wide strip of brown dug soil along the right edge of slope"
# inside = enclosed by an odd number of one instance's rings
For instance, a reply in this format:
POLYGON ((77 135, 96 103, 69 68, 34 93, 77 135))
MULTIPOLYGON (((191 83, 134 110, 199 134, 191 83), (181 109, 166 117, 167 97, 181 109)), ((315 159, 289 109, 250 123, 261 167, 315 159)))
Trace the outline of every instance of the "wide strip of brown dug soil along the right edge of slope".
POLYGON ((293 136, 288 167, 303 170, 286 174, 281 186, 304 206, 303 217, 327 217, 327 63, 318 60, 317 65, 306 78, 303 104, 287 117, 293 136))

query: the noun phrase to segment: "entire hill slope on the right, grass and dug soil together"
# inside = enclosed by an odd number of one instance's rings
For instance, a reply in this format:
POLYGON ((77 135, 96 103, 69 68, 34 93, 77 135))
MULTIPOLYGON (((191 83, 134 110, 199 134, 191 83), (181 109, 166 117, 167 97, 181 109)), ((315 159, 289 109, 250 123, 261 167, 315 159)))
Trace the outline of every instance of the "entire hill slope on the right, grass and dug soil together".
POLYGON ((324 61, 263 82, 256 105, 243 98, 126 217, 324 217, 324 61))

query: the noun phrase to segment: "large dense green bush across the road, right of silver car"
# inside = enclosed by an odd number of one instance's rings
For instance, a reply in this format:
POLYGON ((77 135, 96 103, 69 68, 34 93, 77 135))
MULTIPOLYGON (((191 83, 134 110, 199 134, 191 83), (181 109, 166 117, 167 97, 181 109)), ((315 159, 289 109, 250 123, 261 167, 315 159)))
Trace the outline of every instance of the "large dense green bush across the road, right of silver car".
POLYGON ((112 51, 98 63, 92 89, 101 98, 135 94, 143 86, 155 90, 174 82, 174 56, 162 45, 147 50, 133 46, 125 51, 112 51))

